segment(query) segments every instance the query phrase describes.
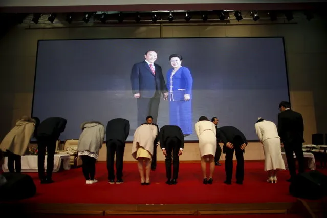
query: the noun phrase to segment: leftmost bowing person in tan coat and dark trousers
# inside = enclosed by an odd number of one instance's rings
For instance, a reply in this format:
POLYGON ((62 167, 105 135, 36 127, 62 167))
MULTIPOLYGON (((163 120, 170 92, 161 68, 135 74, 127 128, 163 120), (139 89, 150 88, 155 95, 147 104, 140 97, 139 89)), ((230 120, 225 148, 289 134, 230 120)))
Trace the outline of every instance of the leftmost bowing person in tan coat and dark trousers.
POLYGON ((36 117, 33 119, 23 116, 2 140, 0 150, 8 153, 9 172, 21 171, 21 156, 26 153, 31 137, 36 132, 39 123, 40 121, 36 117))

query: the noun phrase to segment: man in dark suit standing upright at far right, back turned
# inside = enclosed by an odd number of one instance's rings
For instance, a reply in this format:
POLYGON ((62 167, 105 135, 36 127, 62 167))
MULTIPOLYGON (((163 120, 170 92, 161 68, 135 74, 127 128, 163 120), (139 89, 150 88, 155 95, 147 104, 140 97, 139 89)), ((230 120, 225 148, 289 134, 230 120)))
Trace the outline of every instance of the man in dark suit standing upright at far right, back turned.
POLYGON ((302 144, 304 142, 304 124, 302 115, 298 112, 291 110, 291 105, 287 101, 279 103, 278 114, 278 135, 282 146, 284 146, 287 165, 289 167, 291 178, 296 175, 295 160, 293 152, 297 158, 299 164, 299 173, 304 172, 304 155, 302 150, 302 144))

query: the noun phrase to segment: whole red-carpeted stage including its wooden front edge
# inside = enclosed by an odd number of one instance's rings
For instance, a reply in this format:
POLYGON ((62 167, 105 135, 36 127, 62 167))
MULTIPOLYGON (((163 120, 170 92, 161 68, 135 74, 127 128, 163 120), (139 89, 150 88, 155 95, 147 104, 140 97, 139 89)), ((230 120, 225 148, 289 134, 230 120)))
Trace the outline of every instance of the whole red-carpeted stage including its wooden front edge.
MULTIPOLYGON (((236 163, 234 175, 235 167, 236 163)), ((289 194, 287 170, 279 172, 276 184, 267 183, 263 161, 245 163, 243 185, 223 183, 224 163, 215 167, 212 185, 202 184, 200 163, 180 163, 177 185, 165 184, 164 163, 151 171, 148 186, 141 186, 136 162, 124 163, 123 184, 108 183, 105 162, 97 163, 99 182, 92 185, 85 184, 81 168, 54 173, 52 184, 41 185, 37 173, 28 174, 37 194, 6 205, 38 214, 293 214, 306 206, 317 211, 321 207, 321 201, 303 201, 289 194)))

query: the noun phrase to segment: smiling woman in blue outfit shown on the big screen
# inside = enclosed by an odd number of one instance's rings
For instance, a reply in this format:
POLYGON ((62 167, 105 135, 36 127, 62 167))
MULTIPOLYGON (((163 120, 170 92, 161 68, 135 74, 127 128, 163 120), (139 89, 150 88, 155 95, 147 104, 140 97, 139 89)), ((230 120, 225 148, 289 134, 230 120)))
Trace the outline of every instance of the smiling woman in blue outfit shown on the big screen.
POLYGON ((188 68, 181 66, 183 57, 179 54, 169 56, 172 66, 167 72, 169 92, 169 124, 182 129, 184 136, 192 134, 192 84, 193 78, 188 68))

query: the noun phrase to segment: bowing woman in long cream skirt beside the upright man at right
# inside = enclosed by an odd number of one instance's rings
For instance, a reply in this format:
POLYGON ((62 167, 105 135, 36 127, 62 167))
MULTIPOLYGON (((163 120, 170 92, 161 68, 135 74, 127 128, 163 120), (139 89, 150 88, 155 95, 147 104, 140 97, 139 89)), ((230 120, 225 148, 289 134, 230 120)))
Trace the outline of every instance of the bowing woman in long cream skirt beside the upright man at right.
POLYGON ((280 138, 275 123, 259 117, 254 125, 256 134, 263 144, 265 153, 265 171, 268 172, 267 182, 277 183, 277 170, 285 169, 281 157, 280 138))

